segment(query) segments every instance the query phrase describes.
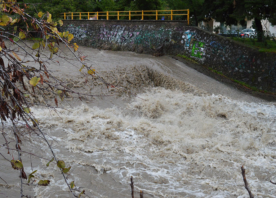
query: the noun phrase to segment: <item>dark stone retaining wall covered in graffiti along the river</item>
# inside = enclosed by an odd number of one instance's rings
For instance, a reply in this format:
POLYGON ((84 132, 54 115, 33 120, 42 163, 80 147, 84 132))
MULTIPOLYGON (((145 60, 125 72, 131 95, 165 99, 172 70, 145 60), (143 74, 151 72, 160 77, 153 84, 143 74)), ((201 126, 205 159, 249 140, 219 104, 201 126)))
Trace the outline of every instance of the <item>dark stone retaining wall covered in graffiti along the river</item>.
POLYGON ((276 53, 259 52, 182 21, 64 20, 78 45, 146 54, 185 55, 252 87, 276 92, 276 53))

